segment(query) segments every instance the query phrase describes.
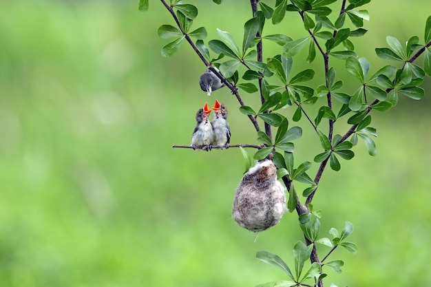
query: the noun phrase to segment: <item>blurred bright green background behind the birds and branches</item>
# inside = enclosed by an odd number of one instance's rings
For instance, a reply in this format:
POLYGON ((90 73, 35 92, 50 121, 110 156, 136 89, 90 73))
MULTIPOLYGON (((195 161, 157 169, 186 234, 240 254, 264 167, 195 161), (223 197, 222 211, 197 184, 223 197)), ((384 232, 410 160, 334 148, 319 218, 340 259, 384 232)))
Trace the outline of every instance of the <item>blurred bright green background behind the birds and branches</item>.
MULTIPOLYGON (((209 39, 215 28, 242 39, 248 1, 224 2, 192 1, 200 8, 193 26, 206 25, 209 39)), ((196 110, 215 98, 230 109, 231 143, 257 142, 227 89, 211 98, 200 91, 205 67, 187 43, 172 58, 160 56, 167 41, 157 28, 173 21, 160 2, 149 4, 142 13, 138 0, 0 0, 0 286, 245 287, 287 279, 254 256, 269 251, 292 264, 302 240, 296 215, 257 236, 231 219, 240 151, 171 148, 189 145, 196 110)), ((387 35, 423 41, 429 0, 366 8, 370 31, 353 43, 370 72, 386 64, 374 48, 386 47, 387 35)), ((288 15, 266 34, 305 36, 298 15, 288 15)), ((305 58, 293 70, 308 67, 305 58)), ((344 78, 343 62, 332 64, 344 78)), ((321 65, 317 56, 312 67, 321 65)), ((387 114, 372 114, 377 157, 359 142, 341 171, 324 173, 314 203, 323 211, 321 236, 348 220, 359 248, 333 253, 346 264, 341 275, 328 271, 328 286, 431 284, 429 78, 423 87, 423 100, 401 98, 387 114)), ((256 95, 243 98, 257 107, 256 95)), ((313 130, 299 124, 306 128, 295 142, 297 164, 320 152, 313 130)), ((345 131, 340 124, 337 132, 345 131)))

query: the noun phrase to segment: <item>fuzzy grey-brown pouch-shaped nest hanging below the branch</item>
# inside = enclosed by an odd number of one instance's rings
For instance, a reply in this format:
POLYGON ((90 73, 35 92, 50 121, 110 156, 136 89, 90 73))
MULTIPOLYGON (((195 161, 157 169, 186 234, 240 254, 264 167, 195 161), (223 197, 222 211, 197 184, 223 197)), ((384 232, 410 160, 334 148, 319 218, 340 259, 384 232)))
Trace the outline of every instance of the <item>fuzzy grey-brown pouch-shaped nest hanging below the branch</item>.
POLYGON ((277 168, 272 160, 257 162, 236 188, 233 219, 249 231, 264 231, 280 222, 285 211, 286 194, 277 168))

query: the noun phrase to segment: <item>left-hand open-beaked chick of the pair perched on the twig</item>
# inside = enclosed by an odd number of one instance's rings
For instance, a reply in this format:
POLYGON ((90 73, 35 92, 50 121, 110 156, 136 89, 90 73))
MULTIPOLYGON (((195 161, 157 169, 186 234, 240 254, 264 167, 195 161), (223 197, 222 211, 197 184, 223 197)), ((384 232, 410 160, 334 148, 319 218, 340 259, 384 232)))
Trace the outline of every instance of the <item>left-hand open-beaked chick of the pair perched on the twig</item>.
POLYGON ((191 146, 196 149, 197 146, 202 146, 202 149, 211 150, 211 142, 214 140, 214 131, 211 122, 209 121, 211 109, 205 103, 203 108, 198 109, 196 113, 196 127, 193 129, 191 136, 191 146))

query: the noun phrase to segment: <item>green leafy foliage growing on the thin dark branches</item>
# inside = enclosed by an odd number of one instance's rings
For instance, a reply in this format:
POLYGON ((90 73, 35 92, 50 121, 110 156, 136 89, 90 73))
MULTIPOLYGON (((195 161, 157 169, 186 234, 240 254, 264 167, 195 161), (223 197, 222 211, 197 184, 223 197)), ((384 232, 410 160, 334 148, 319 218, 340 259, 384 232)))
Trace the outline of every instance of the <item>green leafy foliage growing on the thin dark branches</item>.
MULTIPOLYGON (((364 21, 369 21, 370 17, 364 6, 370 0, 277 0, 274 6, 269 1, 251 1, 253 18, 244 23, 241 45, 231 33, 220 29, 217 29, 219 39, 211 39, 205 44, 206 28, 191 29, 193 20, 198 17, 196 6, 175 0, 161 2, 177 26, 160 26, 158 34, 161 38, 174 39, 162 47, 162 56, 173 55, 187 41, 205 65, 210 69, 212 66, 220 69, 220 72, 213 72, 223 78, 222 81, 238 98, 240 112, 249 117, 256 130, 257 141, 264 145, 258 148, 253 158, 262 160, 273 155, 277 176, 288 189, 288 210, 297 211, 304 242, 299 241, 293 247, 295 272, 278 255, 259 252, 257 259, 282 268, 288 275, 288 281, 273 281, 261 286, 323 286, 328 275, 326 267, 341 273, 341 266, 344 265, 341 259, 326 262, 329 255, 338 246, 356 253, 357 246, 344 241, 353 231, 350 222, 346 222, 341 233, 330 228, 332 240, 319 238, 321 212, 313 211, 312 204, 319 180, 327 164, 334 171, 339 171, 340 159, 351 160, 355 157, 352 149, 357 145, 358 138, 364 142, 371 156, 376 155, 373 137, 377 136, 377 130, 370 126, 372 112, 389 111, 397 105, 399 96, 414 100, 423 98, 425 91, 420 85, 425 76, 431 75, 431 17, 425 23, 423 41, 418 36, 412 36, 403 47, 398 39, 387 36, 388 47, 377 47, 375 52, 381 59, 394 61, 395 64, 379 67, 370 76, 370 62, 356 54, 352 41, 353 37, 364 36, 367 32, 364 21), (334 8, 335 3, 339 4, 338 9, 334 8), (290 32, 279 25, 288 13, 299 14, 306 36, 294 39, 283 34, 285 30, 290 32), (280 33, 265 34, 265 25, 271 24, 279 25, 280 33), (278 54, 263 59, 263 45, 280 45, 278 54), (307 85, 315 77, 315 71, 310 68, 291 74, 293 59, 300 61, 298 54, 305 49, 307 63, 315 61, 317 56, 323 59, 324 83, 320 85, 307 85), (214 58, 211 58, 210 50, 215 53, 214 58), (423 65, 417 63, 421 54, 424 54, 423 65), (343 73, 344 70, 335 70, 331 65, 334 59, 344 61, 346 71, 352 76, 348 85, 337 79, 337 72, 343 73), (262 105, 254 108, 245 105, 238 88, 246 93, 257 93, 262 105), (352 88, 355 92, 347 92, 352 88), (317 112, 314 112, 313 106, 317 107, 317 112), (289 128, 289 120, 296 123, 302 116, 308 120, 308 127, 315 132, 315 141, 322 147, 322 151, 313 158, 318 166, 314 179, 307 173, 313 165, 310 161, 299 165, 294 162, 293 141, 302 136, 305 127, 289 128), (264 123, 264 131, 257 119, 264 123), (348 129, 337 134, 346 125, 348 129), (275 137, 272 136, 273 128, 277 130, 275 137), (295 189, 297 182, 307 184, 302 192, 304 204, 295 189), (323 259, 319 259, 317 244, 330 247, 323 259), (311 264, 303 273, 308 258, 311 264)), ((213 2, 220 4, 222 1, 213 2)), ((140 0, 139 9, 148 10, 148 1, 140 0)), ((251 167, 251 156, 242 147, 240 149, 247 171, 251 167)))

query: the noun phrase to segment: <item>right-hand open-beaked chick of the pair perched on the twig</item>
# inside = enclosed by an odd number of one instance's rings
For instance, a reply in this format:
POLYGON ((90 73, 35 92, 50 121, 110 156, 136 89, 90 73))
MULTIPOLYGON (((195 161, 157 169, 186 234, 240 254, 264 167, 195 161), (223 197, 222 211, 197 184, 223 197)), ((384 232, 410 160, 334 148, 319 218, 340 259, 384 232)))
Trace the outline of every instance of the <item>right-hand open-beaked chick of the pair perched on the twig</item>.
POLYGON ((211 125, 213 125, 214 140, 211 142, 213 147, 229 147, 229 142, 231 142, 231 129, 229 129, 229 124, 227 123, 227 107, 224 104, 215 100, 214 106, 214 118, 211 120, 211 125))

